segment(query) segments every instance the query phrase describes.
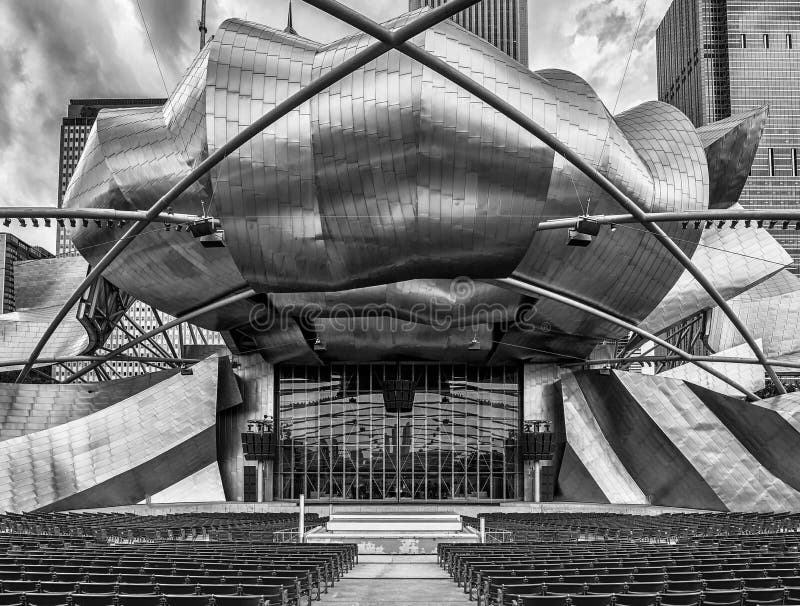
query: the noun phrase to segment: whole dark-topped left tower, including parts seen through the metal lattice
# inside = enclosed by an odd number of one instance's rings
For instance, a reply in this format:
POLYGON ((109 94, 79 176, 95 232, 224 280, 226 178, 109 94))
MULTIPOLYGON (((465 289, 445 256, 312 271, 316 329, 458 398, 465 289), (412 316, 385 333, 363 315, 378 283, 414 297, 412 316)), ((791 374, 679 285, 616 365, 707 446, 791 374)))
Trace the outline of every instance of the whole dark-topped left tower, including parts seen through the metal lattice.
MULTIPOLYGON (((67 109, 67 115, 61 121, 61 158, 59 163, 59 182, 58 182, 58 207, 61 208, 64 202, 64 194, 67 191, 69 180, 78 165, 78 160, 83 153, 86 139, 94 125, 97 114, 101 109, 120 108, 120 107, 145 107, 149 105, 163 105, 166 99, 144 98, 144 99, 71 99, 67 109)), ((66 227, 58 227, 56 234, 56 254, 57 256, 77 255, 78 252, 69 238, 66 227)), ((157 317, 150 307, 141 301, 134 301, 125 318, 120 320, 119 325, 108 338, 106 347, 115 349, 126 343, 132 337, 137 337, 142 331, 147 332, 156 328, 159 320, 168 322, 171 316, 161 315, 157 317)), ((190 326, 177 326, 169 329, 167 333, 155 337, 151 344, 145 344, 136 350, 139 355, 164 355, 169 357, 173 348, 177 348, 179 343, 209 343, 218 345, 222 343, 222 338, 218 333, 203 329, 194 329, 190 326)), ((77 368, 76 365, 68 365, 70 368, 77 368)), ((145 372, 152 372, 140 362, 111 362, 108 368, 112 371, 114 378, 128 377, 145 372)), ((66 374, 63 368, 55 369, 55 378, 63 379, 66 374)))

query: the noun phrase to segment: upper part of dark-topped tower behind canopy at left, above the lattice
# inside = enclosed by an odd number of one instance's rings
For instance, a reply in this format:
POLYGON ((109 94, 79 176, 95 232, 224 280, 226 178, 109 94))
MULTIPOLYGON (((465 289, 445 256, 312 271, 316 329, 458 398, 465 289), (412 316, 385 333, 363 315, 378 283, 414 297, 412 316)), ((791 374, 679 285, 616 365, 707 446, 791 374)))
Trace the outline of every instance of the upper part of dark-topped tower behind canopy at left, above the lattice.
MULTIPOLYGON (((61 153, 58 162, 58 207, 64 203, 69 180, 86 145, 101 109, 114 107, 144 107, 163 105, 166 99, 70 99, 67 115, 61 119, 61 153)), ((56 255, 77 255, 65 227, 56 230, 56 255)))

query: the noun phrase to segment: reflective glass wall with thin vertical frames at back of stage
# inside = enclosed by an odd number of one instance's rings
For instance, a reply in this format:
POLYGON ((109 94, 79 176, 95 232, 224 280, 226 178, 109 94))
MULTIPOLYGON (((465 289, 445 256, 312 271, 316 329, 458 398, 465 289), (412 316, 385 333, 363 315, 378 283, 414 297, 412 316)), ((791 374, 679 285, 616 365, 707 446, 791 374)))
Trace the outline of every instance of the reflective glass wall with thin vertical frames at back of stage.
POLYGON ((518 498, 516 367, 285 366, 277 390, 278 498, 518 498), (386 410, 395 379, 414 386, 411 412, 386 410))

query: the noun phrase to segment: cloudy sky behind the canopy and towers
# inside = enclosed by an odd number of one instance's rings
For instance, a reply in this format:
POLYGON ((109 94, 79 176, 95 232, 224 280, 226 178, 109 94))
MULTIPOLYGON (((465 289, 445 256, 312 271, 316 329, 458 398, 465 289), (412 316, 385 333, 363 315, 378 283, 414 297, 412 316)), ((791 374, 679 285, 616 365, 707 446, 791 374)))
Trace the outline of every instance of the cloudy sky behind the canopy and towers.
MULTIPOLYGON (((209 34, 228 17, 281 28, 286 22, 288 0, 207 2, 209 34)), ((407 8, 407 0, 345 2, 379 21, 407 8)), ((582 75, 617 111, 654 99, 655 29, 669 2, 528 0, 530 67, 582 75)), ((351 31, 302 0, 293 10, 295 29, 308 38, 330 41, 351 31)), ((0 206, 55 206, 59 126, 69 99, 166 96, 197 51, 199 12, 200 0, 0 2, 0 206)), ((12 231, 54 249, 51 230, 12 231)))

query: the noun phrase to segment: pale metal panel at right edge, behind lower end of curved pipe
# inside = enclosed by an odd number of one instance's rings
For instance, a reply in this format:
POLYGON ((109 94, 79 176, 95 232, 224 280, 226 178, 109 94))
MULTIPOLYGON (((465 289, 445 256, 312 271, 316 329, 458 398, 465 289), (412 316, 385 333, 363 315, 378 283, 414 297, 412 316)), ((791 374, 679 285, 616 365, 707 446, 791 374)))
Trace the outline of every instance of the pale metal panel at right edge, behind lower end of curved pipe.
MULTIPOLYGON (((800 278, 783 270, 731 299, 730 305, 753 336, 763 341, 765 355, 800 361, 800 278)), ((742 344, 730 321, 716 308, 709 321, 708 342, 715 349, 742 344)))

